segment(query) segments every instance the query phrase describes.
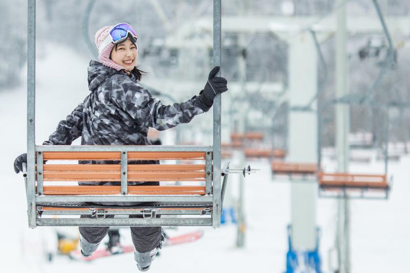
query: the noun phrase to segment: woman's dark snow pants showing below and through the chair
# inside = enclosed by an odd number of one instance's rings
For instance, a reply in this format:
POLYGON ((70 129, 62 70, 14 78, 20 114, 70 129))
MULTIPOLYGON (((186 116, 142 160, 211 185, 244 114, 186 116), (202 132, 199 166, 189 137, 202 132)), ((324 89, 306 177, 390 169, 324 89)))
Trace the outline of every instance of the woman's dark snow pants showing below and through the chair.
MULTIPOLYGON (((157 186, 160 182, 145 182, 143 185, 157 186)), ((159 216, 159 215, 158 215, 159 216)), ((91 215, 81 215, 81 218, 90 218, 91 215)), ((113 218, 114 215, 106 215, 113 218)), ((142 215, 129 215, 130 218, 142 218, 142 215)), ((107 235, 109 227, 79 227, 80 234, 92 244, 102 241, 107 235)), ((132 242, 139 253, 155 249, 161 241, 161 227, 130 227, 132 242)))

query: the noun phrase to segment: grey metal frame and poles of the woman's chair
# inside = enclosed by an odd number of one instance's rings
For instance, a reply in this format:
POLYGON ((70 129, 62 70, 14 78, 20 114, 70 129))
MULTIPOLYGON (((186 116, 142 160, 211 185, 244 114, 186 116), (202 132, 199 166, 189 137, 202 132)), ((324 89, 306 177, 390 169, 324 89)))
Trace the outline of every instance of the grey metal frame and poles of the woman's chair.
MULTIPOLYGON (((36 0, 28 0, 28 20, 27 20, 27 170, 24 173, 26 195, 27 195, 27 215, 28 225, 30 228, 37 226, 212 226, 213 228, 220 227, 221 211, 223 196, 221 195, 225 188, 228 177, 228 164, 225 169, 221 170, 221 96, 217 95, 213 104, 213 146, 42 146, 36 145, 35 142, 35 63, 36 63, 36 0), (208 156, 205 160, 207 166, 206 171, 210 172, 212 180, 212 195, 207 193, 205 196, 178 196, 178 195, 144 195, 144 196, 129 196, 129 195, 65 195, 65 196, 45 196, 41 193, 41 182, 37 185, 36 193, 36 176, 41 177, 42 169, 42 153, 43 152, 58 152, 58 151, 116 151, 121 152, 121 165, 123 168, 127 166, 127 152, 205 152, 208 156), (37 154, 37 170, 36 170, 36 154, 37 154), (224 177, 224 186, 221 187, 221 178, 224 177), (55 219, 44 218, 40 219, 41 213, 38 212, 37 204, 41 202, 84 202, 84 201, 127 201, 127 202, 206 202, 211 205, 211 211, 207 213, 210 218, 70 218, 70 219, 55 219)), ((213 0, 213 64, 215 66, 221 64, 221 0, 213 0)), ((221 73, 221 72, 219 72, 221 73)), ((219 74, 220 75, 220 74, 219 74)), ((208 175, 208 176, 209 176, 208 175)), ((39 179, 38 179, 39 180, 39 179)), ((41 181, 41 178, 40 178, 41 181)), ((121 190, 126 193, 127 179, 125 175, 121 176, 121 190)), ((208 183, 208 186, 210 184, 208 183)), ((145 215, 145 212, 142 212, 145 215)), ((61 214, 68 214, 62 212, 61 214)), ((81 215, 83 213, 77 213, 81 215)), ((105 215, 105 211, 103 213, 105 215)), ((100 215, 101 216, 101 215, 100 215)), ((152 211, 151 211, 152 216, 152 211)))

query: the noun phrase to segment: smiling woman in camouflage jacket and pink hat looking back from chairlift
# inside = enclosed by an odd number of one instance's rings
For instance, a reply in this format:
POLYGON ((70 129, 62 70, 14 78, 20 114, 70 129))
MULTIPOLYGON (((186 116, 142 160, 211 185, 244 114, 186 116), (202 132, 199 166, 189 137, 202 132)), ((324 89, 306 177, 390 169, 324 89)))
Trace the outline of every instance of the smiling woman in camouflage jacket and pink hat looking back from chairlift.
MULTIPOLYGON (((166 130, 188 123, 196 115, 207 112, 217 94, 227 91, 226 79, 215 77, 219 71, 219 67, 215 67, 199 96, 182 103, 163 105, 140 83, 143 72, 136 67, 137 39, 135 30, 127 23, 105 26, 97 31, 95 44, 99 62, 91 60, 88 67, 90 94, 60 121, 44 145, 70 145, 80 136, 82 145, 150 145, 147 138, 149 127, 166 130)), ((26 161, 26 154, 16 158, 16 173, 22 171, 22 162, 26 161)), ((157 161, 129 163, 158 164, 157 161)), ((80 185, 114 183, 119 182, 79 182, 80 185)), ((159 182, 129 182, 129 185, 135 184, 159 185, 159 182)), ((79 230, 81 252, 91 256, 107 234, 108 227, 79 227, 79 230)), ((131 227, 131 234, 138 269, 146 271, 164 240, 161 227, 131 227)))

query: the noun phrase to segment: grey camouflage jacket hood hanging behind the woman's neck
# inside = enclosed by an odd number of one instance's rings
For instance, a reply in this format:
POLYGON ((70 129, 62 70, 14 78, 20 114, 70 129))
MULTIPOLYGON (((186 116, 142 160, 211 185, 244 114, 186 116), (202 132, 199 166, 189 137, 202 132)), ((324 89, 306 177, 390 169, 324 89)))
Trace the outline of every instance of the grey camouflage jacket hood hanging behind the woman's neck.
MULTIPOLYGON (((134 70, 131 72, 129 77, 135 80, 137 77, 134 70)), ((106 78, 115 74, 128 76, 125 69, 118 71, 103 65, 101 62, 91 60, 90 65, 88 66, 88 89, 90 91, 95 90, 106 78)))

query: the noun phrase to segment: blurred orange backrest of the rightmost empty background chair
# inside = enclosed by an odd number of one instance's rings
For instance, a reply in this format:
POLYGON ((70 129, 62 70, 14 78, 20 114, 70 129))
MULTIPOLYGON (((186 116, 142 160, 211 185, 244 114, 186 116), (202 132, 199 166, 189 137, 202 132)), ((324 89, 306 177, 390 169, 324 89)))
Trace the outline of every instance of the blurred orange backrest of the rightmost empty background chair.
POLYGON ((319 173, 318 181, 320 187, 341 188, 374 188, 387 189, 389 184, 386 175, 364 175, 364 174, 325 174, 319 173))

